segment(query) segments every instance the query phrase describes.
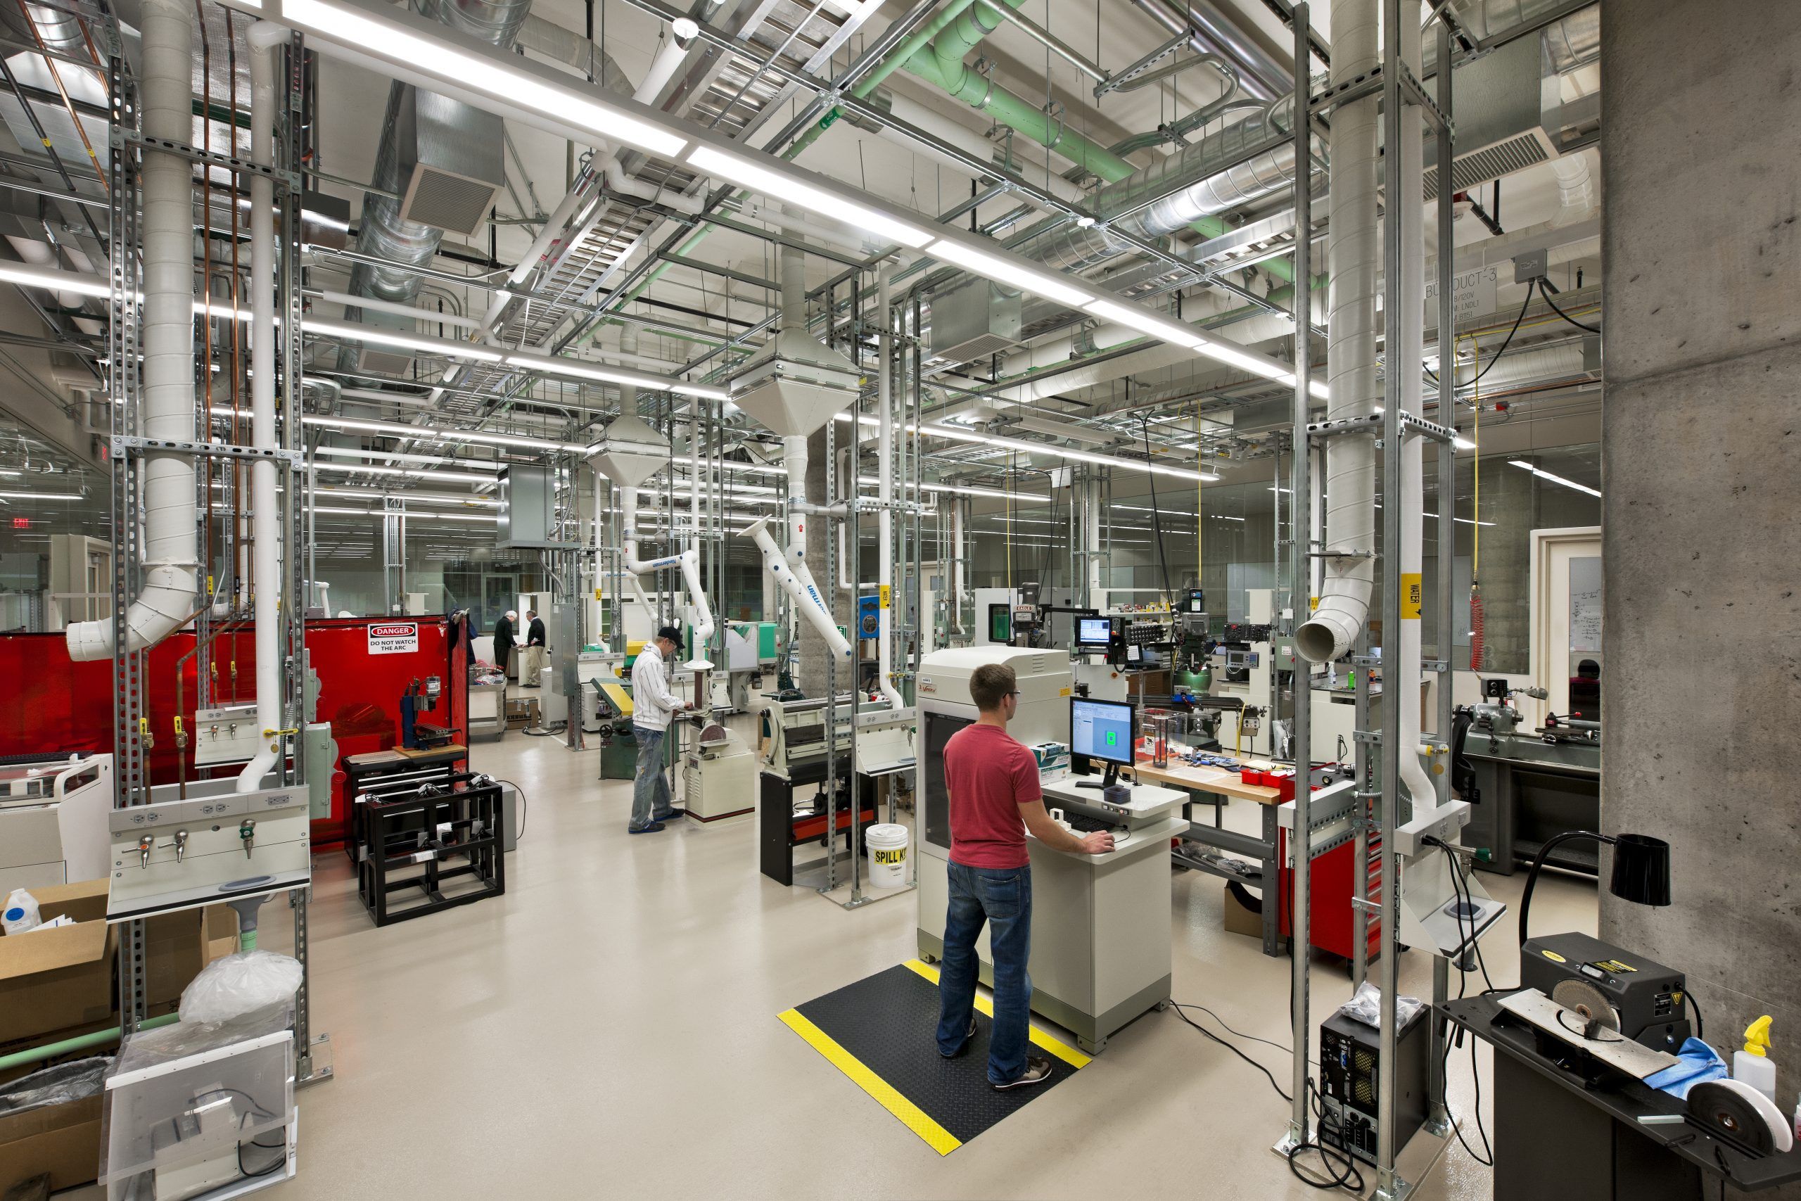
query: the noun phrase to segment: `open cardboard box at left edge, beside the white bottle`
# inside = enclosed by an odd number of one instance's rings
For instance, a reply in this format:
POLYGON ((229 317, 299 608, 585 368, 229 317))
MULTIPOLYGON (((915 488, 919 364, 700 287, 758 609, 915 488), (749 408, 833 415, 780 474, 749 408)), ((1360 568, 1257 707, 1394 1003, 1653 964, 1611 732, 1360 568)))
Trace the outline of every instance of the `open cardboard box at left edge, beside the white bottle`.
POLYGON ((45 918, 67 915, 76 924, 0 935, 0 1043, 112 1016, 117 938, 106 926, 106 884, 83 880, 34 889, 45 918))

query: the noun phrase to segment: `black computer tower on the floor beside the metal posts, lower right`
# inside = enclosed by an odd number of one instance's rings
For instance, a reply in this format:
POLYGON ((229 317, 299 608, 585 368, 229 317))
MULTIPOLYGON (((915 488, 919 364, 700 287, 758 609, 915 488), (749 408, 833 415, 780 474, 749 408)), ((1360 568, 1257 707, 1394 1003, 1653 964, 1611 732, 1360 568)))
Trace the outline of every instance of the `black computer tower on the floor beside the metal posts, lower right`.
MULTIPOLYGON (((1394 1151, 1399 1154, 1426 1120, 1428 1057, 1432 1053, 1432 1014, 1414 1012, 1394 1037, 1394 1151)), ((1333 1014, 1320 1023, 1320 1120, 1318 1140, 1376 1161, 1376 1124, 1380 1113, 1381 1046, 1374 1026, 1333 1014)))

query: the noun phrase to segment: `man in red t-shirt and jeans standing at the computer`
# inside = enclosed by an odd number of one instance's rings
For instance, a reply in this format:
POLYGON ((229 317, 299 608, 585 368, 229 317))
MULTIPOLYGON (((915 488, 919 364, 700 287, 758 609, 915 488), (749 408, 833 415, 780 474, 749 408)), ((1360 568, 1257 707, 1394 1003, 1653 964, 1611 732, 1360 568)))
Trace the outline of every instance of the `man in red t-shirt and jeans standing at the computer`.
POLYGON ((1075 837, 1045 812, 1037 760, 1007 735, 1019 708, 1014 670, 985 663, 969 677, 980 717, 944 745, 944 785, 951 796, 951 904, 944 918, 938 974, 938 1053, 955 1059, 976 1037, 976 936, 989 924, 994 960, 994 1030, 989 1084, 996 1089, 1043 1084, 1050 1061, 1027 1057, 1032 978, 1032 857, 1027 830, 1045 846, 1082 855, 1113 850, 1111 834, 1075 837))

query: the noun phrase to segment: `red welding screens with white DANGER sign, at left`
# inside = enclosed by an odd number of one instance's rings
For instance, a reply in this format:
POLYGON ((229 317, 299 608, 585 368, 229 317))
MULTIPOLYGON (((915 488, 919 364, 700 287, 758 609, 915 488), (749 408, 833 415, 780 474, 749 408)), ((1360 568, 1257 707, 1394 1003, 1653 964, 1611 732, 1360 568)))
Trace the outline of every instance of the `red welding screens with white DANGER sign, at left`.
MULTIPOLYGON (((149 650, 144 717, 149 718, 151 783, 196 780, 193 740, 176 747, 175 717, 195 720, 195 632, 180 630, 149 650)), ((400 744, 400 697, 412 681, 439 677, 430 715, 466 744, 468 628, 461 618, 321 618, 306 623, 308 664, 319 677, 313 720, 331 722, 339 756, 400 744), (411 628, 409 628, 411 627, 411 628)), ((256 700, 256 632, 232 627, 213 641, 213 704, 256 700)), ((113 664, 72 663, 61 634, 0 636, 0 679, 13 681, 0 706, 0 756, 113 749, 113 664)), ((317 771, 312 765, 312 771, 317 771)), ((213 774, 236 771, 214 767, 213 774)), ((331 816, 313 821, 313 843, 344 839, 342 772, 331 763, 331 816)))

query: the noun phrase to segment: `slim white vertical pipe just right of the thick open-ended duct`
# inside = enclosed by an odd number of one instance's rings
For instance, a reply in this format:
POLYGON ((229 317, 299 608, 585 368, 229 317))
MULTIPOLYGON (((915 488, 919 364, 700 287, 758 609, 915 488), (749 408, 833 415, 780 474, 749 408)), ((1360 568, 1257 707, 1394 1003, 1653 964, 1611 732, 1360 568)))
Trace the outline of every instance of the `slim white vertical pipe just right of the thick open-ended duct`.
MULTIPOLYGON (((1401 61, 1419 74, 1419 22, 1401 22, 1401 61)), ((1419 196, 1425 187, 1425 121, 1419 108, 1405 104, 1401 108, 1401 194, 1419 196)), ((1419 362, 1426 337, 1426 241, 1425 241, 1425 205, 1417 200, 1401 205, 1401 312, 1399 321, 1390 326, 1396 339, 1399 362, 1419 362)), ((1425 416, 1425 385, 1417 371, 1401 375, 1401 409, 1425 416)), ((1425 441, 1414 434, 1401 441, 1401 592, 1407 594, 1407 582, 1421 583, 1419 596, 1425 601, 1425 441)), ((1392 486, 1392 483, 1389 484, 1392 486)), ((1425 605, 1421 605, 1421 610, 1425 605)), ((1408 616, 1401 612, 1399 661, 1394 673, 1383 682, 1385 688, 1401 690, 1401 785, 1407 789, 1414 812, 1423 814, 1437 805, 1437 789, 1432 776, 1419 762, 1419 681, 1421 681, 1421 612, 1408 616)), ((1387 641, 1387 639, 1385 639, 1387 641)), ((1443 677, 1441 677, 1443 679, 1443 677)))

